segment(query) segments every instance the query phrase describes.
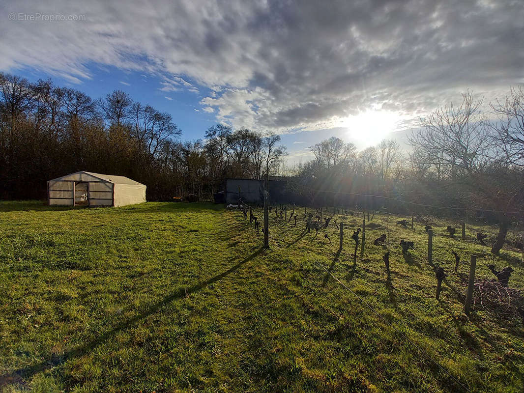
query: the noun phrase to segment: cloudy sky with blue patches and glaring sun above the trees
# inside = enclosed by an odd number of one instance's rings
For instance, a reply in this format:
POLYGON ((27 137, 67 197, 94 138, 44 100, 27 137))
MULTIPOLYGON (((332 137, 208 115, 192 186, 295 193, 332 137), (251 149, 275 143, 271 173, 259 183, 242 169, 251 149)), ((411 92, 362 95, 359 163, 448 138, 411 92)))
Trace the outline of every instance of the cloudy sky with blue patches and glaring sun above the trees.
POLYGON ((336 136, 401 144, 419 119, 524 83, 522 0, 3 0, 0 71, 277 133, 288 161, 336 136))

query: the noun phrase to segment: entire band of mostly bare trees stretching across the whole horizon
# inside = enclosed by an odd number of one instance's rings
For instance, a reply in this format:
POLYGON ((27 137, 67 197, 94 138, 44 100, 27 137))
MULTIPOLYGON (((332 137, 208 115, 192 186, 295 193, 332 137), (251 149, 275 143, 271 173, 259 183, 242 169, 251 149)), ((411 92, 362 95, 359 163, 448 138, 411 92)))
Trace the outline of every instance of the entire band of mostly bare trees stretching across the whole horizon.
POLYGON ((287 167, 278 135, 216 124, 203 139, 183 141, 170 114, 123 91, 93 100, 51 80, 0 73, 2 199, 43 199, 47 180, 79 170, 130 177, 147 185, 149 200, 211 198, 225 178, 269 173, 289 176, 289 187, 310 203, 321 203, 319 195, 326 202, 326 192, 339 193, 341 203, 344 193, 375 194, 391 199, 359 203, 394 208, 402 200, 450 206, 445 214, 456 217, 489 215, 500 223, 497 252, 522 217, 489 210, 524 210, 522 88, 487 104, 466 92, 459 106, 421 119, 408 140, 409 151, 394 140, 357 151, 332 137, 310 147, 313 159, 287 167))

